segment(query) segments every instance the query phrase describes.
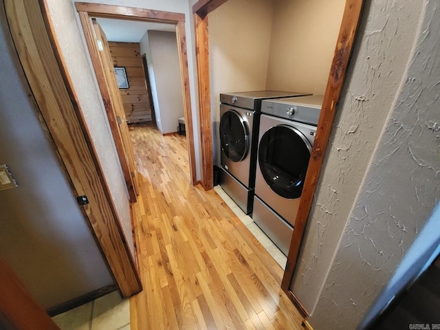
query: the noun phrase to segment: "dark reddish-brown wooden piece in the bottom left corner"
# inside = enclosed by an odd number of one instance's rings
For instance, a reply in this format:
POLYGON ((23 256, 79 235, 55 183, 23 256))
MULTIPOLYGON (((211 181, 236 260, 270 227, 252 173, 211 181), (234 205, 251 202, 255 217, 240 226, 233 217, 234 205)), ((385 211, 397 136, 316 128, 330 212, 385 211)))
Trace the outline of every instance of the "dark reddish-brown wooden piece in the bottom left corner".
POLYGON ((4 261, 0 261, 0 297, 0 327, 6 322, 6 329, 59 329, 4 261))

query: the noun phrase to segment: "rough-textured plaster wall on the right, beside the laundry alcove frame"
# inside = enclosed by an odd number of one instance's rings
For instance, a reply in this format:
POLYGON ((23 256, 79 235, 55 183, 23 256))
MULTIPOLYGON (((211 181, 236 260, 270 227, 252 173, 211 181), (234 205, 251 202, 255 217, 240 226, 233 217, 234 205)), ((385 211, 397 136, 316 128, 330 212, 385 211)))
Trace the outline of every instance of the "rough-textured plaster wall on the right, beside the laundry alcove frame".
POLYGON ((314 329, 360 324, 439 203, 437 10, 366 1, 291 286, 314 329))

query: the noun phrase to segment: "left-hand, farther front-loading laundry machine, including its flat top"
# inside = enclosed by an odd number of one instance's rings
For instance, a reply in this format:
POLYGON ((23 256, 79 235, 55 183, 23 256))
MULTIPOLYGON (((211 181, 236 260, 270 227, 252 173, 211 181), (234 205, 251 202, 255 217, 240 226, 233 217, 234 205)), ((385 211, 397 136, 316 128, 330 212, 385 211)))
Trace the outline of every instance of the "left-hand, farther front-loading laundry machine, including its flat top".
POLYGON ((254 201, 261 102, 304 95, 310 94, 292 91, 220 94, 220 185, 246 214, 252 214, 254 201))

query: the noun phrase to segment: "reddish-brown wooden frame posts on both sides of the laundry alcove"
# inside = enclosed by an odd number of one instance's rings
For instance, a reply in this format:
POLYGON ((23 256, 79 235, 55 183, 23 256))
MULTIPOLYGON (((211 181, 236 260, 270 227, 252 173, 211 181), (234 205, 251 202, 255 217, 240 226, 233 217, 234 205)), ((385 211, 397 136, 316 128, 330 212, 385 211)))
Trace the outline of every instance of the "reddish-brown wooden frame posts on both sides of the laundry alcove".
MULTIPOLYGON (((201 137, 203 164, 212 166, 212 129, 211 129, 211 104, 210 104, 210 72, 209 72, 209 50, 208 50, 208 14, 222 5, 227 0, 199 0, 192 6, 196 29, 196 47, 197 47, 197 69, 199 76, 199 112, 201 118, 201 137), (203 138, 204 137, 204 138, 203 138)), ((294 276, 294 270, 298 261, 298 256, 303 241, 303 236, 313 203, 313 197, 316 185, 320 176, 322 162, 325 158, 333 120, 336 114, 336 107, 342 91, 342 85, 347 72, 355 34, 358 30, 360 15, 362 12, 364 0, 347 0, 336 50, 333 55, 331 69, 327 87, 325 89, 324 101, 322 103, 321 115, 318 122, 314 146, 311 152, 309 168, 305 177, 303 193, 300 199, 298 214, 296 215, 294 233, 290 243, 289 255, 287 256, 287 265, 281 283, 281 288, 289 296, 298 309, 307 317, 307 310, 301 305, 294 293, 289 289, 289 285, 294 276)), ((205 167, 205 170, 209 168, 205 167)), ((210 172, 210 171, 209 171, 210 172)), ((212 175, 203 174, 203 186, 205 189, 212 185, 212 175)))

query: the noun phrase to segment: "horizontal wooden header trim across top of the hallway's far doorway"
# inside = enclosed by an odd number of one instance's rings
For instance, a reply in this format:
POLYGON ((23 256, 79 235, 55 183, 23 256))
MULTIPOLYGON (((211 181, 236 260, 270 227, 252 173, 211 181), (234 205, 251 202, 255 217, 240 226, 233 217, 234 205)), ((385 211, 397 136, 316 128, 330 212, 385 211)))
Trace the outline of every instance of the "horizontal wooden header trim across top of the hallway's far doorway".
POLYGON ((101 3, 76 2, 78 12, 88 12, 90 16, 109 19, 137 19, 157 23, 177 24, 185 21, 185 14, 162 12, 145 8, 125 7, 122 5, 104 5, 101 3))

